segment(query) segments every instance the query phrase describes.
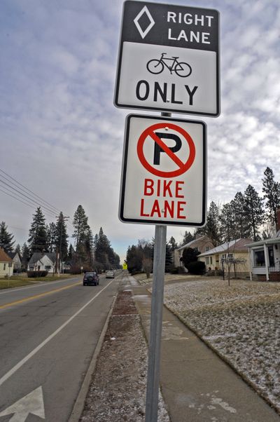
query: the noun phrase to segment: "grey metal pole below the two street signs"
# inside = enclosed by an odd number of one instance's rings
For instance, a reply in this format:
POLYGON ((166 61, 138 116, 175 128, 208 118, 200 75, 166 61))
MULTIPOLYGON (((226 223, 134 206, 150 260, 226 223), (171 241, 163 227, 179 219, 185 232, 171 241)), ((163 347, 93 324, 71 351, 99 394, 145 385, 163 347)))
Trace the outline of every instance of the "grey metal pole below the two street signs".
POLYGON ((153 293, 146 390, 146 422, 158 421, 158 391, 160 386, 160 346, 162 336, 163 292, 165 287, 166 237, 167 227, 155 226, 153 293))

